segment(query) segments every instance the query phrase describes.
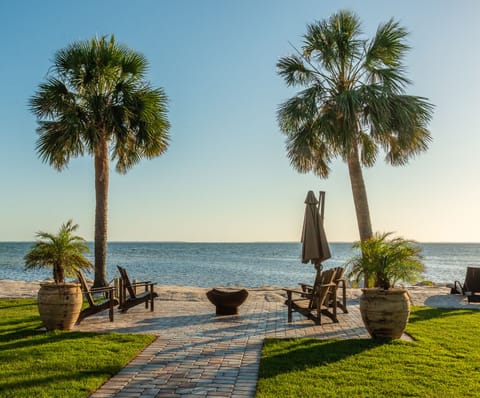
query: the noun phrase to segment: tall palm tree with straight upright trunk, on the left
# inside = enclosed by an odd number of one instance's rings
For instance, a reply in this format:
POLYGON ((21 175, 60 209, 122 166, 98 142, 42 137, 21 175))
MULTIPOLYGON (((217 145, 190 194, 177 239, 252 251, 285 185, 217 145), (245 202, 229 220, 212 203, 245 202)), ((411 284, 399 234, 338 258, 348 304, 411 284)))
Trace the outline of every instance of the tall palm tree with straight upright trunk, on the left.
POLYGON ((71 157, 95 166, 95 281, 105 286, 110 159, 126 173, 168 146, 167 97, 145 81, 147 60, 113 35, 59 50, 47 81, 30 100, 37 116, 37 153, 58 171, 71 157))

